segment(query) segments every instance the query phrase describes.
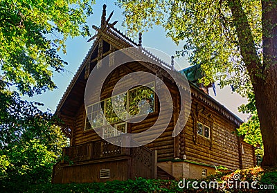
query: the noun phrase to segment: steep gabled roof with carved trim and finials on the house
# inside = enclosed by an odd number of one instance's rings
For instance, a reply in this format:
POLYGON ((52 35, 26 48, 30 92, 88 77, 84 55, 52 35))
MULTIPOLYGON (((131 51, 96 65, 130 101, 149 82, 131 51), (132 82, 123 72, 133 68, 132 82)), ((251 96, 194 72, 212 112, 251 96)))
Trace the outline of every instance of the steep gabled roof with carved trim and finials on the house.
MULTIPOLYGON (((100 39, 105 40, 109 44, 112 44, 117 50, 127 47, 136 47, 139 48, 139 44, 134 42, 132 39, 129 39, 129 37, 125 36, 123 33, 120 32, 120 30, 116 29, 113 24, 109 24, 106 20, 105 16, 105 6, 103 6, 103 13, 102 13, 102 22, 101 27, 97 28, 96 26, 93 26, 94 29, 96 29, 98 32, 94 36, 95 40, 89 49, 86 57, 84 57, 82 64, 78 68, 78 71, 73 76, 73 79, 71 80, 69 86, 67 87, 64 95, 62 96, 62 99, 60 100, 59 104, 57 104, 57 110, 56 114, 62 118, 63 116, 66 116, 67 120, 69 118, 75 117, 75 113, 78 111, 78 109, 84 104, 84 89, 85 85, 87 83, 87 80, 85 80, 85 66, 87 64, 90 65, 91 59, 97 57, 96 48, 98 48, 98 42, 100 39)), ((93 38, 91 38, 93 39, 93 38)), ((149 57, 150 59, 153 59, 155 62, 159 62, 159 64, 166 66, 166 68, 172 69, 173 66, 170 64, 162 61, 159 59, 159 57, 153 55, 145 48, 142 48, 142 53, 149 57)), ((192 94, 195 95, 196 98, 203 101, 204 103, 208 104, 209 106, 213 107, 215 111, 222 114, 225 118, 231 120, 235 123, 235 125, 240 125, 242 123, 242 120, 238 118, 238 116, 235 116, 229 109, 226 109, 222 104, 217 102, 215 99, 211 98, 211 96, 204 93, 201 89, 199 89, 197 86, 193 84, 193 82, 197 79, 199 74, 199 68, 197 66, 191 66, 189 68, 185 68, 184 73, 187 73, 189 76, 188 80, 190 80, 190 87, 192 89, 192 94), (191 74, 191 75, 190 75, 191 74)), ((62 118, 63 119, 63 118, 62 118)), ((74 120, 72 120, 74 122, 74 120)))

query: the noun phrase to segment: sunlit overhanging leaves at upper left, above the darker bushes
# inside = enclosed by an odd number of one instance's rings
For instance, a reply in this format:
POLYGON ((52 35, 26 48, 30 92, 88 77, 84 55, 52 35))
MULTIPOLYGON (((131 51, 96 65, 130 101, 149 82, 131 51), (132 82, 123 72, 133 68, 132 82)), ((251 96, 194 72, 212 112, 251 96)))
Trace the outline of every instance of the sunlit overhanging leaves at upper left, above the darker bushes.
MULTIPOLYGON (((92 2, 93 3, 93 2, 92 2)), ((0 65, 2 79, 32 96, 55 89, 53 71, 62 71, 57 54, 68 37, 89 35, 89 0, 0 2, 0 65)))

